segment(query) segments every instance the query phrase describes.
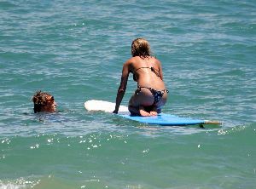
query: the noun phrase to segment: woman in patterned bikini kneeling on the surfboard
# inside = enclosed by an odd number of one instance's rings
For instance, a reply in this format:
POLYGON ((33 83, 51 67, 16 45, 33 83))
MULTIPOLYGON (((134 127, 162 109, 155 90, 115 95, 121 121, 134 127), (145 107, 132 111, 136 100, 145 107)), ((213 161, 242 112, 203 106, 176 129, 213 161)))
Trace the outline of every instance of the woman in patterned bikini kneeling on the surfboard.
POLYGON ((113 113, 119 112, 129 74, 133 73, 137 89, 129 101, 129 111, 140 116, 156 116, 161 112, 161 106, 166 104, 168 93, 160 60, 151 55, 149 43, 144 38, 137 38, 131 43, 131 55, 123 66, 113 113))

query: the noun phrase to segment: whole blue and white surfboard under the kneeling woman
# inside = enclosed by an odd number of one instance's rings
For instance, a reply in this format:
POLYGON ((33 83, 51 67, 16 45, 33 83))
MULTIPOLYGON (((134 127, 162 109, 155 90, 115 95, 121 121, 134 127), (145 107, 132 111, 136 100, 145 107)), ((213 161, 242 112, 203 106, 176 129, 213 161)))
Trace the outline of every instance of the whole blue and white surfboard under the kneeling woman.
MULTIPOLYGON (((88 100, 84 102, 84 107, 88 111, 102 111, 102 112, 113 112, 115 108, 115 103, 103 101, 103 100, 88 100)), ((158 116, 152 117, 142 117, 142 116, 132 116, 128 111, 126 106, 119 107, 119 117, 137 121, 140 123, 148 124, 159 124, 165 126, 175 126, 175 125, 194 125, 194 124, 220 124, 218 121, 209 121, 202 119, 177 117, 172 114, 160 113, 158 116)))

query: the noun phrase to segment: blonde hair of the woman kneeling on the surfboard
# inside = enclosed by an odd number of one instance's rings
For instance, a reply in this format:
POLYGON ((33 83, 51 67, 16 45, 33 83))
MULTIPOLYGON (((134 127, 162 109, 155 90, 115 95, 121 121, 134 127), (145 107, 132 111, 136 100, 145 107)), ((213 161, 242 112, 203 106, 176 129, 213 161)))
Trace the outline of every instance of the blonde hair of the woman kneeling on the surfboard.
POLYGON ((146 58, 151 56, 150 45, 144 38, 137 38, 131 43, 131 55, 146 58))

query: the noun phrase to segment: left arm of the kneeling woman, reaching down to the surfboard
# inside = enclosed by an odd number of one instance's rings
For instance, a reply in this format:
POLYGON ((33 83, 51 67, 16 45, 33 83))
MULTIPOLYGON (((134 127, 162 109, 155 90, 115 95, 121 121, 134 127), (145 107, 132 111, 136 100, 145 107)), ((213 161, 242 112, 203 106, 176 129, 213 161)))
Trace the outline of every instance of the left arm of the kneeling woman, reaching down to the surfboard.
POLYGON ((115 100, 115 109, 113 113, 118 113, 119 112, 119 106, 121 104, 121 101, 123 100, 123 97, 125 95, 125 90, 127 86, 127 81, 129 77, 129 62, 125 62, 123 66, 123 72, 122 72, 122 77, 121 77, 121 82, 119 85, 119 89, 116 95, 116 100, 115 100))

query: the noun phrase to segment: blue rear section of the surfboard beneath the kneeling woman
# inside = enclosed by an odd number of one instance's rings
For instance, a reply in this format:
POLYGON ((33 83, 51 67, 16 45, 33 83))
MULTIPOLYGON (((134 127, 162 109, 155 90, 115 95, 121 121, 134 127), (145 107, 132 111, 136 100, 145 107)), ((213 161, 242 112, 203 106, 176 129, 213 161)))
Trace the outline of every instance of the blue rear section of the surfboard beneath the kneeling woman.
POLYGON ((165 113, 160 113, 158 116, 154 116, 154 117, 131 116, 129 114, 122 114, 122 113, 117 115, 133 121, 140 122, 140 123, 160 124, 160 125, 166 125, 166 126, 193 125, 193 124, 205 123, 205 121, 201 119, 177 117, 177 116, 174 116, 171 114, 165 114, 165 113))

